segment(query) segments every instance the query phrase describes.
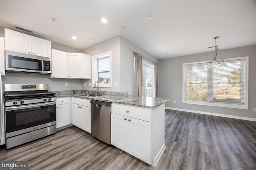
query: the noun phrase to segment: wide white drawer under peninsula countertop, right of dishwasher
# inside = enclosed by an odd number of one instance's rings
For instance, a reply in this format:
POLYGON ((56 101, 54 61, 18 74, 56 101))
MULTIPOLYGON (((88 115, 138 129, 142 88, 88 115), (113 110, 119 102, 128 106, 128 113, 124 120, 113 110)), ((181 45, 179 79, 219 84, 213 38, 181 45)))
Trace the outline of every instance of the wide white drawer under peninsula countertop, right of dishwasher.
POLYGON ((140 107, 112 104, 111 112, 151 122, 151 110, 140 107))

